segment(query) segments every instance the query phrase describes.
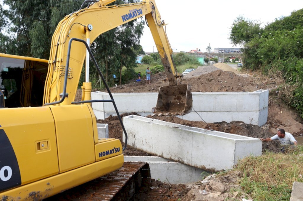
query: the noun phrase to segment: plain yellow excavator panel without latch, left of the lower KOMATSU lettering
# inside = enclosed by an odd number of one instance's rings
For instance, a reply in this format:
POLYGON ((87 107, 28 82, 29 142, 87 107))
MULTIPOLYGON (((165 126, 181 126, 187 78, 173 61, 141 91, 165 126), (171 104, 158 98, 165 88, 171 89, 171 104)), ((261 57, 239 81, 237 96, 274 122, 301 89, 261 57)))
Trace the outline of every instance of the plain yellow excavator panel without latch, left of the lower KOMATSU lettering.
POLYGON ((55 119, 59 172, 95 162, 93 123, 88 106, 50 108, 55 119))

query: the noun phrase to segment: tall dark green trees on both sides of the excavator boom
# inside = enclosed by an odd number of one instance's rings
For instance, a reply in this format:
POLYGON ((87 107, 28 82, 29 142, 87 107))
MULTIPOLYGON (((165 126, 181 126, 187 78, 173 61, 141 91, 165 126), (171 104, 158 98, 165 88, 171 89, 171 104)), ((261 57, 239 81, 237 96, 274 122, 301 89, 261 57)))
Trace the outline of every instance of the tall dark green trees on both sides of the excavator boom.
MULTIPOLYGON (((118 0, 112 5, 134 2, 138 0, 118 0)), ((0 51, 48 59, 52 35, 58 22, 65 15, 77 11, 83 0, 4 0, 4 3, 9 9, 0 8, 0 29, 2 31, 6 26, 7 34, 0 32, 0 51), (11 23, 8 24, 8 21, 11 23)), ((135 51, 143 51, 139 45, 143 25, 142 19, 130 21, 102 34, 92 44, 92 52, 107 81, 113 83, 112 75, 120 74, 121 83, 123 66, 132 72, 131 69, 135 67, 135 51)), ((81 76, 82 79, 84 75, 81 76)), ((98 80, 94 67, 90 68, 90 79, 98 80)))

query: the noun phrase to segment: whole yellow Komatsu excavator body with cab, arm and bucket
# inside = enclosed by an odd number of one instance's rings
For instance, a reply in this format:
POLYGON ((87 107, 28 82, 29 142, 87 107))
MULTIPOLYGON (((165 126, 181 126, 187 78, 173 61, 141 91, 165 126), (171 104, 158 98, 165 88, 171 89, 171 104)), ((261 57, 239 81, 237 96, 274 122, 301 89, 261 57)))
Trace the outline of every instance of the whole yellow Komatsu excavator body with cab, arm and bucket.
POLYGON ((153 112, 191 111, 190 88, 177 83, 182 74, 155 1, 108 6, 112 2, 85 1, 65 16, 53 34, 49 60, 0 54, 0 199, 44 199, 122 167, 126 143, 122 148, 118 139, 98 139, 91 107, 92 102, 111 102, 123 127, 89 49, 108 30, 145 16, 169 80, 153 112), (91 100, 90 59, 111 100, 91 100), (84 62, 82 101, 74 102, 84 62))

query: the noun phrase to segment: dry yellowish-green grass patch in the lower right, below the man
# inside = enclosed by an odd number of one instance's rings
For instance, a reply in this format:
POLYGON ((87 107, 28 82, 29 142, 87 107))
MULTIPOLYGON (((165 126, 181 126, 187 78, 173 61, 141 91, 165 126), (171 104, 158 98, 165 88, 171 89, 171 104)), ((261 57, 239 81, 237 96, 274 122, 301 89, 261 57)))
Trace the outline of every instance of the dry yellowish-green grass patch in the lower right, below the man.
POLYGON ((231 171, 243 173, 239 180, 242 194, 254 200, 289 200, 293 182, 303 182, 303 146, 287 154, 246 157, 231 171))

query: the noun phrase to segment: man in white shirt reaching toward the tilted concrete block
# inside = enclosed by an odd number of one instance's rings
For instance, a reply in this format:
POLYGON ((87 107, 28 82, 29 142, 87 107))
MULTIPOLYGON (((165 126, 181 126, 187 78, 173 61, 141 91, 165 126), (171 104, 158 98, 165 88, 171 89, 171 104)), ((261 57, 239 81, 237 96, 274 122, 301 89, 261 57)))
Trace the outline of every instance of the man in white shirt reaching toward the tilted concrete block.
MULTIPOLYGON (((272 140, 279 140, 281 145, 298 145, 298 142, 295 140, 294 136, 292 136, 289 132, 285 132, 284 129, 278 129, 277 135, 272 136, 271 138, 260 138, 260 140, 264 142, 269 142, 272 140)), ((285 147, 282 147, 282 152, 285 151, 285 147)))

